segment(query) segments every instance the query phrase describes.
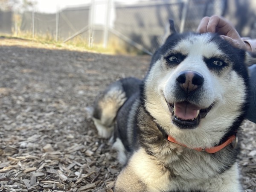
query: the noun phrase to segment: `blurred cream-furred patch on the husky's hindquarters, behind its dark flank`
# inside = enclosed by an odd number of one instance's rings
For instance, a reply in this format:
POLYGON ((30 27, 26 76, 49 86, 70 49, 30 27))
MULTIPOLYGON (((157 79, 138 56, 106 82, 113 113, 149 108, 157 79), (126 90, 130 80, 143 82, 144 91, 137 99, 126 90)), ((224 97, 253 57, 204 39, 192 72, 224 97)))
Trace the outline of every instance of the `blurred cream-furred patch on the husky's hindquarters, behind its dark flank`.
POLYGON ((98 96, 94 103, 92 116, 100 137, 111 137, 117 111, 126 99, 121 81, 114 82, 98 96))

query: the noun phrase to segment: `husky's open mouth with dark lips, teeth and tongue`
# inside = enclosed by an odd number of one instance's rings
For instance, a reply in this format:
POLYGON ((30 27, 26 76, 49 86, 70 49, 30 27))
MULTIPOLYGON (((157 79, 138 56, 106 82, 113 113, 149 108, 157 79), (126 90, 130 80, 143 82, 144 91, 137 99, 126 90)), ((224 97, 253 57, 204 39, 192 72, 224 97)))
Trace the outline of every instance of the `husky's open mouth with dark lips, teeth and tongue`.
POLYGON ((172 113, 172 122, 181 129, 193 129, 199 125, 200 119, 204 118, 211 110, 212 105, 208 108, 200 108, 190 102, 169 103, 166 101, 169 111, 172 113))

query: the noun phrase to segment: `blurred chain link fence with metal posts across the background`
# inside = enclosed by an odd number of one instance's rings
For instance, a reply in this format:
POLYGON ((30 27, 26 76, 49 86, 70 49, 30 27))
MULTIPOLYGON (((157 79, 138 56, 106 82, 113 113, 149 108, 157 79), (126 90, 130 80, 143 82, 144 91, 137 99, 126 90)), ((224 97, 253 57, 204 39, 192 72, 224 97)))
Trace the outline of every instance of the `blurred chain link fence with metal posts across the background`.
MULTIPOLYGON (((177 31, 185 32, 195 31, 204 16, 221 15, 231 20, 242 36, 256 38, 255 10, 254 0, 148 0, 136 4, 91 0, 88 5, 56 14, 24 12, 20 31, 63 42, 76 37, 90 47, 118 42, 119 47, 136 47, 151 54, 169 32, 169 19, 174 20, 177 31)), ((3 18, 0 14, 0 21, 3 18)))

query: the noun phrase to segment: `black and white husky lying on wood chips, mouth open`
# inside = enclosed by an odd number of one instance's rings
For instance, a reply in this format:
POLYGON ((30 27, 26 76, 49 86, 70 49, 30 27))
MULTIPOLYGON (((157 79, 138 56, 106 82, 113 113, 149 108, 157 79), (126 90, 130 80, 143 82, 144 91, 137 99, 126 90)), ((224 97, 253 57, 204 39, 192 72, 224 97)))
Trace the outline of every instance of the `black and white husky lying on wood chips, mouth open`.
POLYGON ((249 54, 218 34, 171 35, 145 79, 121 79, 93 120, 125 166, 116 192, 240 192, 236 133, 247 109, 249 54))

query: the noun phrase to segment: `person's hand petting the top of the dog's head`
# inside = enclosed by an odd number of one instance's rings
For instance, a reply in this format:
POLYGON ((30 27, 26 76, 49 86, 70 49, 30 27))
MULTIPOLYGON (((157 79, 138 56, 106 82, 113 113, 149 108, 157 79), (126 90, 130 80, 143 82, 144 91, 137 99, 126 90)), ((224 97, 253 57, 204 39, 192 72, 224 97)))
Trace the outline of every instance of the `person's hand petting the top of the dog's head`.
POLYGON ((232 23, 225 20, 223 17, 219 17, 217 15, 212 17, 204 17, 201 20, 197 31, 200 33, 217 32, 222 38, 230 42, 230 44, 232 44, 234 47, 251 51, 250 45, 241 39, 239 33, 236 31, 232 23))

